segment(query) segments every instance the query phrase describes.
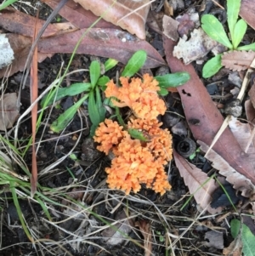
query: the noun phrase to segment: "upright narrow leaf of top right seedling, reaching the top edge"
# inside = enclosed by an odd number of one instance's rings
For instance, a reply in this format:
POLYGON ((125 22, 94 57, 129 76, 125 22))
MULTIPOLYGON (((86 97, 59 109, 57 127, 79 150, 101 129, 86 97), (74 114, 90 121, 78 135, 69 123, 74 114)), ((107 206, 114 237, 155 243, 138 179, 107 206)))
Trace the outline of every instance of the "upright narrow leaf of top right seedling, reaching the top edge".
POLYGON ((227 16, 232 42, 235 41, 235 24, 241 7, 241 0, 227 0, 227 16))

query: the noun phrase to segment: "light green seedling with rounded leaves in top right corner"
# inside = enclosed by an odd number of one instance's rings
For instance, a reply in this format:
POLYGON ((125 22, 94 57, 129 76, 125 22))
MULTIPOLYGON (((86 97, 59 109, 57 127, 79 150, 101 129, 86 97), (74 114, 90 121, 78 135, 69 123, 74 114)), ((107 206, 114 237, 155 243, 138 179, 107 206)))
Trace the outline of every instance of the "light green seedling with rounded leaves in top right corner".
MULTIPOLYGON (((240 7, 241 0, 227 0, 227 17, 231 42, 226 32, 224 31, 224 26, 222 26, 219 20, 217 20, 213 15, 203 15, 201 17, 201 27, 209 37, 218 43, 222 43, 224 46, 229 48, 229 50, 255 51, 255 43, 238 47, 247 29, 246 21, 242 19, 238 20, 240 7)), ((216 55, 211 60, 208 60, 207 63, 203 66, 202 76, 204 78, 212 77, 222 67, 221 55, 222 54, 216 55)))

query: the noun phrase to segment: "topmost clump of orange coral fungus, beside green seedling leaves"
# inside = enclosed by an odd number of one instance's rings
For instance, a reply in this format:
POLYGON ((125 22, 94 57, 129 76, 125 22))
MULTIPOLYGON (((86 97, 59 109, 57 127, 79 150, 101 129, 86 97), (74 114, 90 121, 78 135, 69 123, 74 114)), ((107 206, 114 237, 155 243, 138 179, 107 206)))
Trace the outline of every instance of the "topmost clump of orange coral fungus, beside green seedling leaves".
POLYGON ((120 102, 113 100, 114 105, 128 106, 137 117, 147 120, 156 119, 158 115, 165 113, 166 105, 158 97, 157 91, 160 88, 156 79, 144 74, 143 80, 140 78, 132 78, 131 82, 128 80, 128 77, 120 77, 122 87, 117 87, 112 80, 106 84, 106 97, 116 97, 120 100, 120 102))

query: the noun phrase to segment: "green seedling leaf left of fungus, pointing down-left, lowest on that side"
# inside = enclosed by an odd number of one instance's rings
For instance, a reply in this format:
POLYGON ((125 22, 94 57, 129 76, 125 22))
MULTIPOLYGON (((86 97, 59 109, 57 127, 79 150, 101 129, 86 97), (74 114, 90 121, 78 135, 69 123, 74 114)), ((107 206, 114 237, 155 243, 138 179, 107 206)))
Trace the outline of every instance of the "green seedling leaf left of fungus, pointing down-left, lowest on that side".
POLYGON ((68 110, 66 110, 63 114, 61 114, 57 120, 55 120, 50 129, 54 131, 54 133, 60 133, 66 128, 71 119, 77 113, 78 108, 82 105, 83 101, 88 98, 88 94, 84 95, 81 100, 78 100, 76 104, 72 105, 68 110))

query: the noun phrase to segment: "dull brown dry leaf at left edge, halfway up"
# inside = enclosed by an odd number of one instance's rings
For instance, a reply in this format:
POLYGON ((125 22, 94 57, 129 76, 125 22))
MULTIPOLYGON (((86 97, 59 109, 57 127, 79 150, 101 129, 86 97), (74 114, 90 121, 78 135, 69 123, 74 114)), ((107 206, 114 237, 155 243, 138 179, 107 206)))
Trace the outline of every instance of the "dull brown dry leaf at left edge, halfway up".
POLYGON ((19 116, 19 108, 17 106, 17 94, 3 94, 0 100, 0 130, 5 131, 12 128, 14 122, 19 116))

